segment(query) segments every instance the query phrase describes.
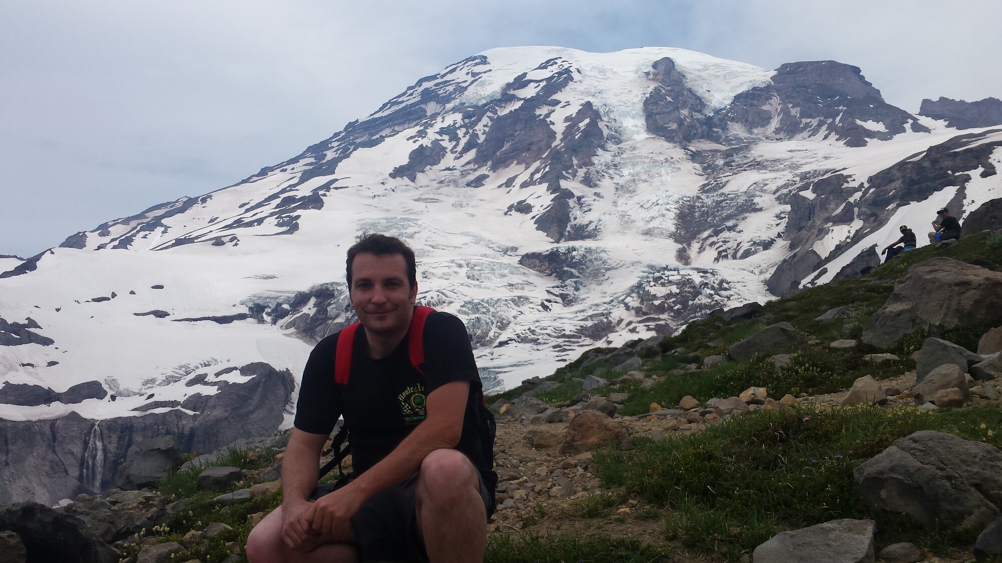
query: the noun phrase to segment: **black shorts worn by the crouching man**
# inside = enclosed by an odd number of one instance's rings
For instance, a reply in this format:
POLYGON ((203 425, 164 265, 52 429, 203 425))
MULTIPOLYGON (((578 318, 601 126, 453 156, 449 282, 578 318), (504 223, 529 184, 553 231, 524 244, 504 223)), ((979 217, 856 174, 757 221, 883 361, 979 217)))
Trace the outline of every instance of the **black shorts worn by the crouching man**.
MULTIPOLYGON (((490 518, 488 507, 493 504, 484 478, 480 480, 480 497, 484 501, 485 518, 490 518)), ((342 486, 351 483, 348 479, 342 486)), ((418 519, 414 511, 414 488, 418 474, 408 477, 403 483, 376 493, 366 501, 352 517, 352 532, 361 561, 401 561, 406 563, 428 563, 425 542, 418 531, 418 519)), ((310 500, 317 500, 337 489, 335 483, 321 485, 314 489, 310 500)))

